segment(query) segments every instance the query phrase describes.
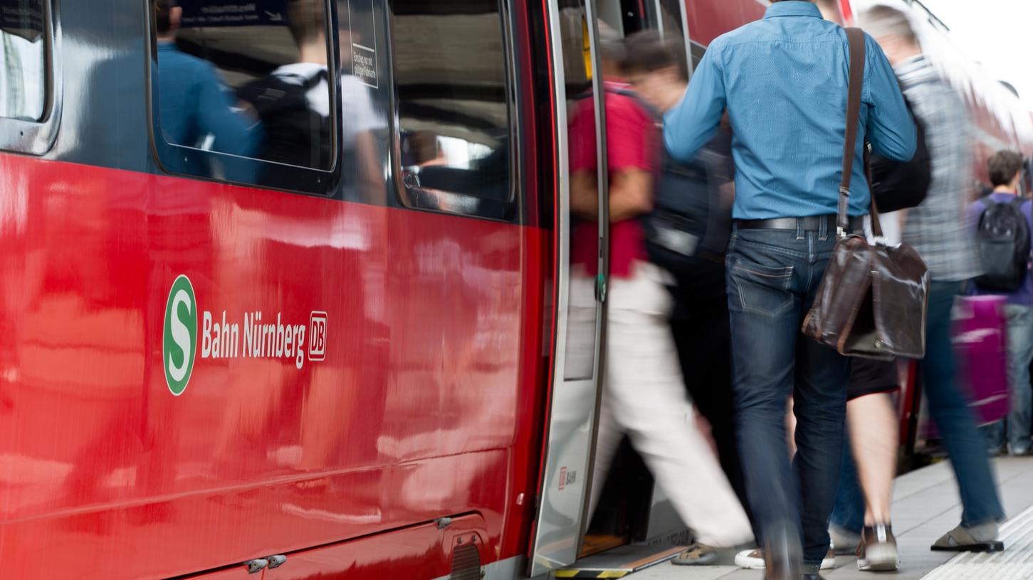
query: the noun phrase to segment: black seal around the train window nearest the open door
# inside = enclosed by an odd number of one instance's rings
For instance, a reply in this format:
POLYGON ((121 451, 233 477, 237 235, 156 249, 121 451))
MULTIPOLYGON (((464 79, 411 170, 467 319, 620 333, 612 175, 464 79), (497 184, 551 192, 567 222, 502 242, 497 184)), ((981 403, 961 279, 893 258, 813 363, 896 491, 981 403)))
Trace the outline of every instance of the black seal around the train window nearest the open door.
POLYGON ((513 23, 512 14, 506 0, 497 0, 497 2, 499 7, 499 20, 502 23, 502 58, 503 66, 505 67, 505 102, 509 133, 509 151, 507 152, 507 160, 509 163, 509 195, 508 198, 504 200, 425 188, 406 184, 404 182, 402 175, 402 123, 400 116, 400 99, 398 94, 398 83, 395 78, 395 30, 392 24, 393 19, 387 13, 387 11, 394 13, 394 7, 392 5, 392 0, 385 0, 383 3, 386 8, 384 12, 384 28, 387 29, 386 44, 388 51, 388 62, 390 63, 390 66, 387 67, 388 78, 390 80, 390 114, 387 117, 389 119, 392 131, 392 147, 389 155, 392 176, 395 186, 393 189, 395 190, 395 195, 399 203, 406 207, 419 210, 421 212, 482 218, 500 222, 514 222, 520 220, 519 208, 521 200, 519 193, 522 189, 522 182, 520 179, 521 172, 518 168, 521 166, 520 164, 522 162, 520 153, 521 137, 519 130, 521 117, 518 102, 519 95, 515 90, 516 61, 513 41, 513 23), (442 206, 447 207, 447 210, 443 210, 442 206))

